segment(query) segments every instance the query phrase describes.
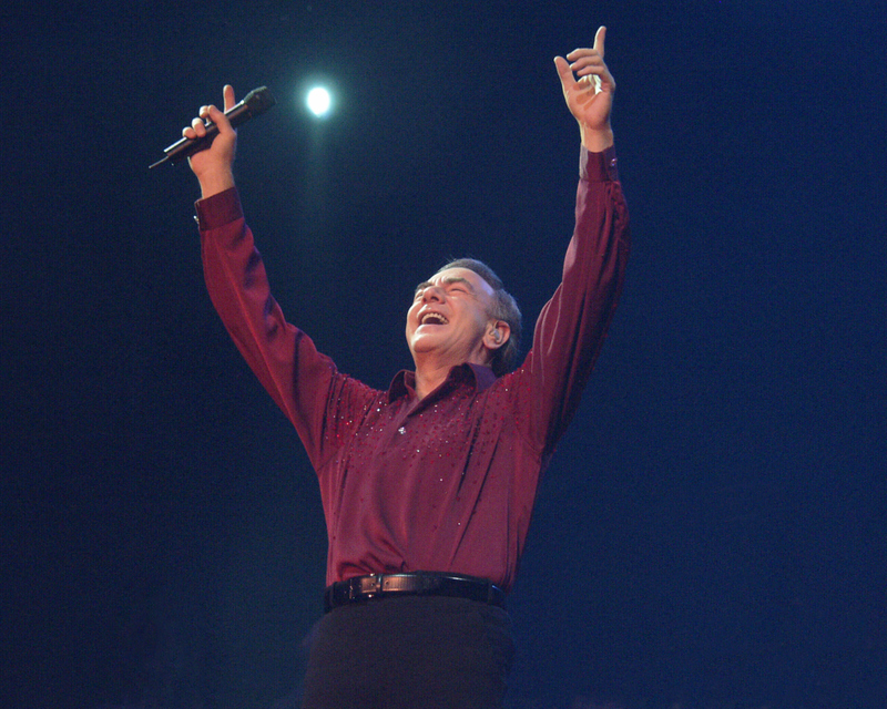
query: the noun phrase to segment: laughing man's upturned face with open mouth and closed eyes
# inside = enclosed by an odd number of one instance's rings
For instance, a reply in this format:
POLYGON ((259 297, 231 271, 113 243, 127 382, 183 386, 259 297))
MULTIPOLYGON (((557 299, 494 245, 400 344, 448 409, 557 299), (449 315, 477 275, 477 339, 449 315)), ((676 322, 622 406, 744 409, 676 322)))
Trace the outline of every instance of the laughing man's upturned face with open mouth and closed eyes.
POLYGON ((431 353, 450 366, 486 363, 483 335, 493 297, 492 287, 468 268, 448 268, 419 284, 407 312, 414 360, 431 353))

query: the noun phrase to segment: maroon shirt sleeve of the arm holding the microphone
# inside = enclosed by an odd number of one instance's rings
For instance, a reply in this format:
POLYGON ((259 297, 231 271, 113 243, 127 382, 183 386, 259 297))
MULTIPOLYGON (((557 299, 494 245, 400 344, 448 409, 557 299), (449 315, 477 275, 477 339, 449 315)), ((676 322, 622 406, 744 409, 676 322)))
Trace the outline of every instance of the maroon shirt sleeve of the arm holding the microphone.
POLYGON ((295 427, 319 470, 338 427, 373 390, 338 372, 312 339, 288 323, 268 286, 236 188, 196 203, 210 298, 241 354, 295 427))

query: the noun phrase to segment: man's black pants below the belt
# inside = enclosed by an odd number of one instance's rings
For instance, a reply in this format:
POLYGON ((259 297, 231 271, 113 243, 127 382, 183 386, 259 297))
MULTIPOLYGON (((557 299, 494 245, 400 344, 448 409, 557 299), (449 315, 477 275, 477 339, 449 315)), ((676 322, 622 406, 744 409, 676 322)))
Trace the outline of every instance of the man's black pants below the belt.
POLYGON ((514 644, 501 608, 402 596, 325 615, 315 628, 305 709, 496 709, 514 644))

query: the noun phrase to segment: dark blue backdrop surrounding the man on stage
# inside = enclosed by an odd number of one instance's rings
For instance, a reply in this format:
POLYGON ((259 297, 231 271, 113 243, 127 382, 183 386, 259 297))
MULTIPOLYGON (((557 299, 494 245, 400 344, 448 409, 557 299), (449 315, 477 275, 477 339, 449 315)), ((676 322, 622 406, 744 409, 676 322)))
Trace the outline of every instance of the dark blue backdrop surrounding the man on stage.
POLYGON ((146 169, 197 106, 277 95, 237 163, 275 294, 385 387, 446 257, 528 322, 553 290, 551 59, 605 23, 634 248, 510 602, 511 706, 885 706, 884 6, 373 7, 0 11, 0 703, 295 701, 316 483, 205 296, 193 176, 146 169))

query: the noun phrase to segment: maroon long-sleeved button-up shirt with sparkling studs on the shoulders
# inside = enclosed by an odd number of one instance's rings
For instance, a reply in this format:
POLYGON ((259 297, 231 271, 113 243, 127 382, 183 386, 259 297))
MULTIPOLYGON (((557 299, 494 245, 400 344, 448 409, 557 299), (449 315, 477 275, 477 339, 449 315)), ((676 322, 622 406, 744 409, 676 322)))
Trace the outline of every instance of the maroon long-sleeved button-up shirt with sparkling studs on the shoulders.
POLYGON ((514 582, 541 472, 570 422, 619 297, 629 217, 613 148, 582 151, 563 281, 516 371, 462 364, 421 401, 379 391, 286 322, 235 189, 197 203, 210 296, 317 472, 327 583, 414 571, 514 582))

